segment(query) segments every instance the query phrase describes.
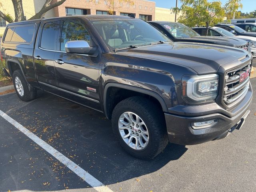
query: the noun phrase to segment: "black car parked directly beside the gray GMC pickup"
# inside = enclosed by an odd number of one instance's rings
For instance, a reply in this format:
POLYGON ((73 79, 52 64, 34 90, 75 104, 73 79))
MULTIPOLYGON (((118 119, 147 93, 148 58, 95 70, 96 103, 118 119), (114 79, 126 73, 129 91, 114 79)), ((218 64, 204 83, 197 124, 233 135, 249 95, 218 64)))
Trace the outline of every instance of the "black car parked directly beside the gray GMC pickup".
POLYGON ((236 38, 200 36, 200 34, 196 33, 191 28, 177 22, 150 21, 149 23, 174 42, 218 44, 248 50, 248 44, 244 40, 236 38))

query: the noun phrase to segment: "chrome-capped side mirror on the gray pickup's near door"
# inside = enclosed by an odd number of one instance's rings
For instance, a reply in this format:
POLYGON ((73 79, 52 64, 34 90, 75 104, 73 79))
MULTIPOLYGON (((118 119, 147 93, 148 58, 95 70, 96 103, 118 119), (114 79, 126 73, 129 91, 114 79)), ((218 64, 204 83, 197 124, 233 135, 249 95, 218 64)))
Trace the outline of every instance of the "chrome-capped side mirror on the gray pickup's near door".
POLYGON ((68 41, 65 45, 67 53, 86 54, 90 56, 98 56, 98 49, 96 47, 90 47, 88 42, 84 40, 68 41))

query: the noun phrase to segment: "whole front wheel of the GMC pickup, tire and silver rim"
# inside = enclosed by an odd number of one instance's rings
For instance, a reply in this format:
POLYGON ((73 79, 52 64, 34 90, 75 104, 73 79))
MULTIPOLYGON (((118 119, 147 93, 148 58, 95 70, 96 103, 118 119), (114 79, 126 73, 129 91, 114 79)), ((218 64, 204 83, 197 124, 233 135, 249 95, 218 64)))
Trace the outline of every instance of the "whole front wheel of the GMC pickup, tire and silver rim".
POLYGON ((142 97, 131 97, 116 105, 112 126, 120 145, 130 155, 152 159, 168 144, 162 110, 142 97))

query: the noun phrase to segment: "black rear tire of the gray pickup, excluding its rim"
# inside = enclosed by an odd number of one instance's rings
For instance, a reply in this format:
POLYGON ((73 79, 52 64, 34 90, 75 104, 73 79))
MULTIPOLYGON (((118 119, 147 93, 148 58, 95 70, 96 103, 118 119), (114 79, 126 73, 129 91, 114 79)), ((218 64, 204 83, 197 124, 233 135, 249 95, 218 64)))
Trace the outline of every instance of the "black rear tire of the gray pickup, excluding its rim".
POLYGON ((14 89, 18 95, 18 97, 20 98, 20 100, 22 101, 30 101, 33 100, 34 98, 36 98, 36 89, 29 87, 28 83, 26 82, 22 71, 21 70, 16 70, 14 71, 13 75, 12 75, 12 82, 14 84, 14 89), (24 94, 23 96, 20 95, 20 93, 18 92, 16 85, 15 85, 15 78, 18 77, 20 79, 20 82, 23 86, 23 90, 24 90, 24 94))

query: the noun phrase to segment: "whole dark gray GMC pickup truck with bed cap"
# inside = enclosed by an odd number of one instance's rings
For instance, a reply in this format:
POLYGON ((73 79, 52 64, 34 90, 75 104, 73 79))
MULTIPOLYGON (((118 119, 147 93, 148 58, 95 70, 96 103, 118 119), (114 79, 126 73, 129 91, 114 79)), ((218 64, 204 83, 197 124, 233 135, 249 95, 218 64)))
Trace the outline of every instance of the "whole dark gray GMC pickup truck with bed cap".
POLYGON ((121 146, 137 158, 154 158, 168 142, 224 138, 250 112, 249 52, 174 43, 132 17, 8 24, 1 57, 21 100, 36 98, 40 89, 102 112, 121 146))

